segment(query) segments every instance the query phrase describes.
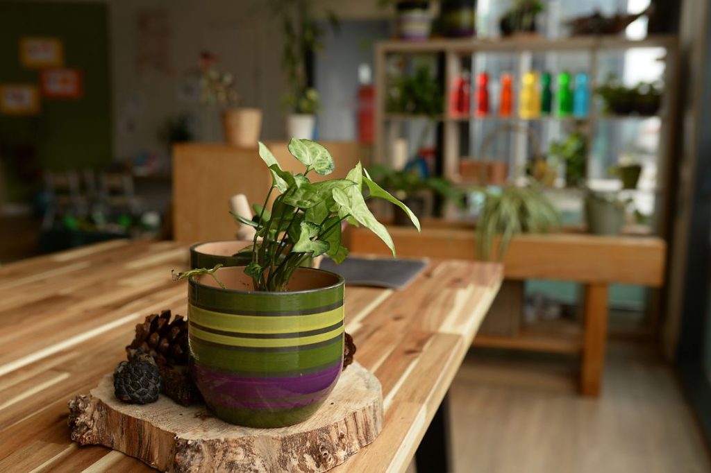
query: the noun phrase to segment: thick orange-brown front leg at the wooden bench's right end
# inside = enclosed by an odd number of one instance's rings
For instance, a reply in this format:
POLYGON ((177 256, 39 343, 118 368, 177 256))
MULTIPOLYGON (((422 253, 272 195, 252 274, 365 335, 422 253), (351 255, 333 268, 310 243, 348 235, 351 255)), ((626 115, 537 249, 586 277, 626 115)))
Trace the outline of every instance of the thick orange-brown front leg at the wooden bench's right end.
POLYGON ((585 286, 584 331, 580 392, 584 396, 599 396, 605 368, 607 342, 607 285, 585 286))

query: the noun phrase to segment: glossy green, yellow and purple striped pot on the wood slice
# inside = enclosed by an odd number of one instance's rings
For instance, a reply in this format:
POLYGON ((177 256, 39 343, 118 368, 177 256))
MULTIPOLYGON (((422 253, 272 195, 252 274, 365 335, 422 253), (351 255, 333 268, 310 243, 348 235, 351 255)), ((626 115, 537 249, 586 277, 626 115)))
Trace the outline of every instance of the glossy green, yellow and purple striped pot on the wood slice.
POLYGON ((255 428, 303 422, 343 364, 343 278, 299 268, 289 291, 257 292, 242 267, 193 276, 191 373, 218 418, 255 428))

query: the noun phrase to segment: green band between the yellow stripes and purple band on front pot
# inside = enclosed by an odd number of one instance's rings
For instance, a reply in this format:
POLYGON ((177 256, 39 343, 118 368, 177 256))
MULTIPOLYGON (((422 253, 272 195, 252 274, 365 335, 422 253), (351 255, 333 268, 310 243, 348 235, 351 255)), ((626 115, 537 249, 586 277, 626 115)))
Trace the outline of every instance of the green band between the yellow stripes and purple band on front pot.
POLYGON ((190 349, 196 361, 210 369, 262 377, 285 376, 340 360, 343 357, 343 337, 318 347, 296 347, 291 352, 237 351, 233 347, 215 346, 196 338, 190 339, 190 349))

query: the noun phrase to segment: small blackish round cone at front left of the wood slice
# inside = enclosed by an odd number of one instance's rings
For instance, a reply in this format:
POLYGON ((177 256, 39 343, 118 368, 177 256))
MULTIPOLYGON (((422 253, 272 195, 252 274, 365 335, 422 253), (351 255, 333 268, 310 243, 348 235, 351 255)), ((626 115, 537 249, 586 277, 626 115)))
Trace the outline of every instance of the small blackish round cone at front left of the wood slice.
POLYGON ((158 401, 161 392, 161 375, 151 359, 137 357, 122 361, 114 371, 114 395, 130 404, 147 404, 158 401))

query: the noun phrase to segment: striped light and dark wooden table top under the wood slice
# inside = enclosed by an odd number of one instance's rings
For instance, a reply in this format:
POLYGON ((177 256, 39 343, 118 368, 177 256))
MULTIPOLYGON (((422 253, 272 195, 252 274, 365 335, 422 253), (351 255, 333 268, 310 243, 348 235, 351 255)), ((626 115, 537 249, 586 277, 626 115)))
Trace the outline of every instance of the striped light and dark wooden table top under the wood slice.
MULTIPOLYGON (((67 402, 124 359, 134 326, 187 315, 186 246, 110 241, 0 268, 0 471, 154 471, 69 440, 67 402)), ((333 471, 403 471, 503 278, 501 266, 439 261, 405 290, 346 288, 346 331, 383 385, 380 436, 333 471)))

